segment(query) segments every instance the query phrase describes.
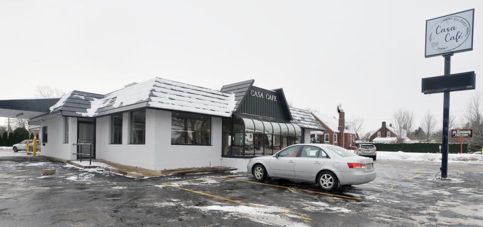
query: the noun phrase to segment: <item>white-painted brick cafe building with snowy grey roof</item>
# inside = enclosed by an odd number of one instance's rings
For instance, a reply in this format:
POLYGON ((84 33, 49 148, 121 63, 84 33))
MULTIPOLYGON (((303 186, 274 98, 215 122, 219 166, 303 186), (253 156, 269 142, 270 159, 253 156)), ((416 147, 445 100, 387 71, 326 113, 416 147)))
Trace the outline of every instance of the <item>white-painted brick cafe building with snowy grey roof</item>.
POLYGON ((103 159, 151 170, 228 166, 309 143, 324 130, 289 108, 283 89, 254 80, 220 91, 153 78, 108 94, 71 91, 60 98, 0 100, 0 117, 41 126, 42 155, 103 159))

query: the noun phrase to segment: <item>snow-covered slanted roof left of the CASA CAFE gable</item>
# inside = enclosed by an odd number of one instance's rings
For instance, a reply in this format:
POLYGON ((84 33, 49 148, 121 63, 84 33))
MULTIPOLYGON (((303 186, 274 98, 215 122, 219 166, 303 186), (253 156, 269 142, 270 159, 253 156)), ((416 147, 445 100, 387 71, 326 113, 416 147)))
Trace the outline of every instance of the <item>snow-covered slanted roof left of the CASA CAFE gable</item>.
POLYGON ((230 117, 235 97, 234 94, 156 77, 106 95, 72 91, 62 96, 50 110, 69 111, 70 116, 95 117, 133 104, 136 104, 133 108, 154 107, 230 117), (66 109, 66 103, 73 102, 69 100, 82 106, 66 109))

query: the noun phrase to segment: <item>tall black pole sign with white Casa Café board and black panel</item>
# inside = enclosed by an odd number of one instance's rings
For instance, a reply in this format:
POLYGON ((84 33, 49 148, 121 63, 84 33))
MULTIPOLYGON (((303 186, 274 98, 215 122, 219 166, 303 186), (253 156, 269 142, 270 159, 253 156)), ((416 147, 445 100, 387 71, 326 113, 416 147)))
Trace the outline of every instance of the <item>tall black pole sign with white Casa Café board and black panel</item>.
POLYGON ((449 92, 475 89, 474 72, 451 74, 451 56, 473 50, 473 21, 474 9, 426 21, 425 57, 444 57, 444 75, 421 83, 425 94, 443 93, 442 180, 448 180, 449 92))

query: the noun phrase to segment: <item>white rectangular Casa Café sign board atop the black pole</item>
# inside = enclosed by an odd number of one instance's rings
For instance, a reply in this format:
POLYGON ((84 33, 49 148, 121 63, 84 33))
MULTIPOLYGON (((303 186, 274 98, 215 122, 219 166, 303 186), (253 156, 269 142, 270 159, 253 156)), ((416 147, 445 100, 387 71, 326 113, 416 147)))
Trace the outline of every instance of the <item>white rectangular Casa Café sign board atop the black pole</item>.
POLYGON ((425 57, 473 50, 474 9, 426 21, 425 57))

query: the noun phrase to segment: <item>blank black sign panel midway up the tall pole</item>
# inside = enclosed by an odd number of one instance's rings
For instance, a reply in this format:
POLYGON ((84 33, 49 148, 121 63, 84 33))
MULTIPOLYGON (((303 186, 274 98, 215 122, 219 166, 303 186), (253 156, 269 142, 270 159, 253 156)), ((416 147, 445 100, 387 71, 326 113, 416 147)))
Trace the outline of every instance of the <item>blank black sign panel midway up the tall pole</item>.
POLYGON ((422 79, 421 92, 425 94, 432 94, 444 92, 445 90, 471 90, 474 89, 474 81, 474 71, 456 73, 446 76, 427 77, 422 79))

